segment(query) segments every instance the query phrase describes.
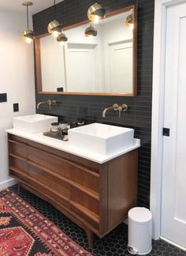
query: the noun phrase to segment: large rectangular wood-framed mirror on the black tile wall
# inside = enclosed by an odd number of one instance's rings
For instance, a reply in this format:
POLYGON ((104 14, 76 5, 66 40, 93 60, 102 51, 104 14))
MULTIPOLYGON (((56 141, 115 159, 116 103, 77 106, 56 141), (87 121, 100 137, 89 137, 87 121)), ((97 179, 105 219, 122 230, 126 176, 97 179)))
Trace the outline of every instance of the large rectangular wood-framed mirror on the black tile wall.
POLYGON ((39 94, 136 96, 136 6, 112 13, 86 37, 90 21, 63 28, 59 43, 49 34, 35 37, 35 75, 39 94), (132 15, 132 26, 126 24, 132 15))

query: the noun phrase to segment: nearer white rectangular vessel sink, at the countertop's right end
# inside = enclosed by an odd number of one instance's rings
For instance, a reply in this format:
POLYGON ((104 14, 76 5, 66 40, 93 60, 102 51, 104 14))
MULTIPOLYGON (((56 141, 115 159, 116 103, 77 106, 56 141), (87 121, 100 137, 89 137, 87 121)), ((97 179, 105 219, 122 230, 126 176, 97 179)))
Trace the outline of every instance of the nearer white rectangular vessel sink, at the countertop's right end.
POLYGON ((134 130, 92 123, 69 130, 69 146, 102 155, 120 152, 133 145, 134 130))

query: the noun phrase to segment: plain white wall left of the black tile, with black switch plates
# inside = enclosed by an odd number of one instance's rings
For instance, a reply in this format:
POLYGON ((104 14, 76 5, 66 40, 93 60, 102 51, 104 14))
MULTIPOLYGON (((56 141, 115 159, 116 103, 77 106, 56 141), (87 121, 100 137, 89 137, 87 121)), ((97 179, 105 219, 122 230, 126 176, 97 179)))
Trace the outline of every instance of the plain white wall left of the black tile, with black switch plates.
POLYGON ((6 187, 8 149, 6 129, 13 127, 13 117, 35 112, 33 44, 24 43, 21 33, 26 28, 25 13, 0 9, 0 93, 7 93, 7 102, 0 103, 0 189, 6 187), (19 112, 13 113, 13 103, 19 112))

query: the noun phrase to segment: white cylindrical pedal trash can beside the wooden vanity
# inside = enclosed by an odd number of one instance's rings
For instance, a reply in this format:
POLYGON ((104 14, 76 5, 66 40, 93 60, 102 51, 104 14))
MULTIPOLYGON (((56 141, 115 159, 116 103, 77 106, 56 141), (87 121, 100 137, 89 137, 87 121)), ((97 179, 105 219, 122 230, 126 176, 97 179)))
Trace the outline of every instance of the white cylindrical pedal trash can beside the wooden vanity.
POLYGON ((128 211, 128 252, 144 255, 152 249, 152 214, 149 209, 135 207, 128 211))

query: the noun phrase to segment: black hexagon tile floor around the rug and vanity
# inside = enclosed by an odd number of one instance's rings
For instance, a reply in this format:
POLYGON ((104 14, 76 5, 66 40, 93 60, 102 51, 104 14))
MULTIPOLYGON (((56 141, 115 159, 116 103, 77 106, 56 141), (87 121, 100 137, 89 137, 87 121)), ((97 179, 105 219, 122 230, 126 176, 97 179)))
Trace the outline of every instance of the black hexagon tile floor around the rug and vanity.
MULTIPOLYGON (((113 229, 103 239, 99 239, 95 235, 94 247, 90 249, 87 243, 87 236, 82 228, 79 228, 73 221, 69 220, 66 216, 60 213, 52 205, 38 198, 34 194, 20 189, 20 193, 17 192, 17 186, 11 186, 9 189, 13 190, 28 201, 30 205, 35 207, 40 213, 54 222, 66 235, 79 243, 80 246, 90 251, 95 256, 125 256, 131 255, 127 250, 127 225, 120 224, 117 228, 113 229)), ((166 243, 163 240, 153 241, 153 247, 149 256, 163 255, 163 256, 186 256, 186 251, 180 250, 174 247, 172 244, 166 243)))

